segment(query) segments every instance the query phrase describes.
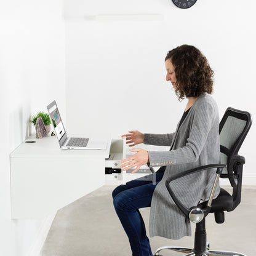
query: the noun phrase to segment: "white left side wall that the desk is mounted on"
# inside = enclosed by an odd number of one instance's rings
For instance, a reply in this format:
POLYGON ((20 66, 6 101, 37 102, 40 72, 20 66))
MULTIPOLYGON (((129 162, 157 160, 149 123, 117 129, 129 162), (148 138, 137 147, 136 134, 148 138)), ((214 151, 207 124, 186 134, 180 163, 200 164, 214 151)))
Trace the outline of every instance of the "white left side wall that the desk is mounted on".
POLYGON ((4 241, 1 255, 11 255, 2 252, 8 246, 12 247, 12 255, 23 255, 23 249, 39 228, 34 221, 22 225, 6 222, 10 219, 9 154, 28 136, 30 116, 37 111, 47 111, 46 105, 53 99, 62 106, 65 118, 62 11, 62 0, 0 2, 0 238, 4 241), (26 230, 26 236, 22 230, 26 230), (11 240, 17 244, 12 244, 11 240))

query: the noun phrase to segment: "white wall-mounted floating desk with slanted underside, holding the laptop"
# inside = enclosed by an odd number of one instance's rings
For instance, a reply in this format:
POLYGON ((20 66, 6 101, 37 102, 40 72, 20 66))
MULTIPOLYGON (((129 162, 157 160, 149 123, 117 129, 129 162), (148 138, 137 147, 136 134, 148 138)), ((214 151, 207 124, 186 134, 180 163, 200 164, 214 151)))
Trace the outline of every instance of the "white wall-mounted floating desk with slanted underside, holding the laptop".
POLYGON ((10 154, 12 218, 41 218, 105 183, 106 150, 61 150, 55 137, 34 135, 10 154))

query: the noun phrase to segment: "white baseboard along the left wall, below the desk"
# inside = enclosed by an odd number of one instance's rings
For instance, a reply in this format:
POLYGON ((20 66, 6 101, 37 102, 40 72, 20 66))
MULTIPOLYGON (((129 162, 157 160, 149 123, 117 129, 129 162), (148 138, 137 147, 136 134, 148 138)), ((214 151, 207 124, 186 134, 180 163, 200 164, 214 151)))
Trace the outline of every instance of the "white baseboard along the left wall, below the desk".
POLYGON ((49 233, 50 226, 54 221, 54 217, 57 212, 52 215, 47 216, 42 222, 41 228, 38 232, 38 236, 36 237, 34 243, 30 247, 30 251, 27 256, 39 256, 42 246, 44 245, 44 241, 46 241, 47 234, 49 233))

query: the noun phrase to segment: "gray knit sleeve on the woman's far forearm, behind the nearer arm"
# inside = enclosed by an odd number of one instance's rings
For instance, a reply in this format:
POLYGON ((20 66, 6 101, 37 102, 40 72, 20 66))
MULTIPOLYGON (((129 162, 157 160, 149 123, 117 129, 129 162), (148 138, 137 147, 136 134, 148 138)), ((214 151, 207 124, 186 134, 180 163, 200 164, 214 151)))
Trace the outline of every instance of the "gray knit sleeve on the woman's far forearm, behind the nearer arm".
POLYGON ((144 134, 144 144, 154 146, 170 146, 174 133, 172 134, 144 134))

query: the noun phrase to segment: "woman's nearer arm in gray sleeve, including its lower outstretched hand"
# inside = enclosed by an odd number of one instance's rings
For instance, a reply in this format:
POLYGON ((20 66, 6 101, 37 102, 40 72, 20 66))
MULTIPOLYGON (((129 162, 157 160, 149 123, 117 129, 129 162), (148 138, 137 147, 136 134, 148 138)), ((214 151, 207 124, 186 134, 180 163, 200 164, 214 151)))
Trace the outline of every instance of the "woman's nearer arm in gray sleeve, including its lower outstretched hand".
MULTIPOLYGON (((217 113, 212 104, 204 102, 196 109, 191 121, 191 129, 188 138, 183 138, 182 134, 180 139, 185 140, 185 146, 180 146, 176 150, 171 151, 146 151, 141 148, 137 150, 137 154, 121 161, 121 168, 124 170, 137 167, 136 172, 140 166, 150 163, 150 166, 167 166, 171 164, 186 164, 189 162, 196 162, 201 154, 202 149, 206 145, 207 137, 213 126, 215 127, 215 134, 213 137, 218 136, 218 120, 217 113), (215 124, 214 124, 215 122, 215 124)), ((178 139, 178 135, 177 135, 178 139)), ((215 139, 215 138, 214 138, 215 139)))

